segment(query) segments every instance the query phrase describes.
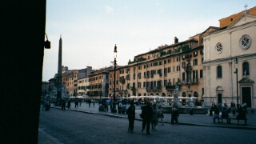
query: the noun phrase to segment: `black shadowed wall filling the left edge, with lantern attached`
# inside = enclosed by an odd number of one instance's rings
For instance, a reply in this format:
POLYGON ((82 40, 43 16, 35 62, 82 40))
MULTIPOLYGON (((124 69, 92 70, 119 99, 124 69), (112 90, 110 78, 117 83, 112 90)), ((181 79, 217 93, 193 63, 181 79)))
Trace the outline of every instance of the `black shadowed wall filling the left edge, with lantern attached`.
POLYGON ((46 0, 5 0, 0 9, 0 143, 37 143, 46 0))

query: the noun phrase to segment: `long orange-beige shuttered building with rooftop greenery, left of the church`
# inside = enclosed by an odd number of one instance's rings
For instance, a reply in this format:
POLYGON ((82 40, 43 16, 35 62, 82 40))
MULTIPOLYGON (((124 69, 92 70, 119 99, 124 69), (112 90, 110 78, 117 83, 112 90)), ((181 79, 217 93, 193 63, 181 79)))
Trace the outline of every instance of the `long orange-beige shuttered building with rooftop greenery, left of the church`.
MULTIPOLYGON (((116 70, 116 94, 122 97, 159 95, 173 96, 174 86, 179 96, 202 98, 203 42, 202 34, 217 30, 210 26, 184 42, 174 38, 174 44, 158 46, 145 54, 138 54, 128 66, 116 70), (118 82, 119 80, 119 82, 118 82)), ((114 70, 110 71, 110 94, 114 89, 114 70)))

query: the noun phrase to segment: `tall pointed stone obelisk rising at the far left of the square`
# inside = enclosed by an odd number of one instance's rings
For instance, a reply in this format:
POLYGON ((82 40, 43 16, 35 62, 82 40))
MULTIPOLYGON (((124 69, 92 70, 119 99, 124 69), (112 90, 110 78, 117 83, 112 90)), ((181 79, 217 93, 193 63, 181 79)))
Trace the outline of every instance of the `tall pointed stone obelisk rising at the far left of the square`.
POLYGON ((58 99, 62 98, 62 35, 58 43, 58 74, 57 74, 58 99))

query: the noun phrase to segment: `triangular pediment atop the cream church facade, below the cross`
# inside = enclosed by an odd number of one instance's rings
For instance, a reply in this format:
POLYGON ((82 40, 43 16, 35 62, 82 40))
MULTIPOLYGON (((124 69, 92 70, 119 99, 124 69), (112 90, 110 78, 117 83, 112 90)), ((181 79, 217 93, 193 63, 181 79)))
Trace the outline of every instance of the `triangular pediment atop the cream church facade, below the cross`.
POLYGON ((254 22, 254 21, 256 21, 255 15, 242 14, 242 16, 240 18, 238 18, 237 20, 235 20, 230 26, 228 26, 227 29, 230 29, 235 26, 241 26, 248 22, 254 22))

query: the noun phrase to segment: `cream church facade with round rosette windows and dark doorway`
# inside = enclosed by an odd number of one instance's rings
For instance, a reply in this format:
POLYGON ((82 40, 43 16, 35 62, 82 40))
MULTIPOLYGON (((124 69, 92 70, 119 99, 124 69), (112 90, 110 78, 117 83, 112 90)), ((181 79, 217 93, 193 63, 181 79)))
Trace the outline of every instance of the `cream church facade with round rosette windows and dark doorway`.
MULTIPOLYGON (((222 18, 222 21, 226 19, 222 18)), ((246 102, 248 107, 256 107, 256 74, 253 71, 256 70, 255 32, 256 15, 243 12, 229 26, 204 35, 203 98, 206 105, 238 101, 239 104, 246 102), (234 73, 236 70, 238 73, 234 73)))

